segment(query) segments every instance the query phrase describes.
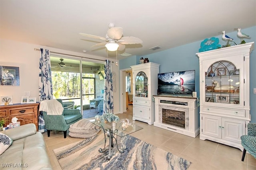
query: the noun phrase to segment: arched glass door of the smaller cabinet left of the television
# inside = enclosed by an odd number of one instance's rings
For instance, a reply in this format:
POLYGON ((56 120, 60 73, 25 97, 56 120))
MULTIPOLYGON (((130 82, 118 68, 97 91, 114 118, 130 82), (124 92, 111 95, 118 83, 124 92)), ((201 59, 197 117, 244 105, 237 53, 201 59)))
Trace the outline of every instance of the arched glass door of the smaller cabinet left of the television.
POLYGON ((138 72, 135 77, 135 96, 148 97, 148 77, 143 71, 138 72))

